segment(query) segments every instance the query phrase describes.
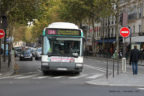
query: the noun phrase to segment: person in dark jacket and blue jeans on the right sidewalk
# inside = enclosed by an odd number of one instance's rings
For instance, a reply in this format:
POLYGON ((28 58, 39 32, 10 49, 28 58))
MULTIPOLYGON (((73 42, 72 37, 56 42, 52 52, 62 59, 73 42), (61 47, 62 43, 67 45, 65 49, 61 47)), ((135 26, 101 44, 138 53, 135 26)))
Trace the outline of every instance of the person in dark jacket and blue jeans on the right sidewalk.
POLYGON ((130 64, 132 65, 133 75, 138 74, 139 56, 140 56, 140 51, 137 49, 137 46, 134 46, 134 49, 131 50, 131 54, 130 54, 130 64))

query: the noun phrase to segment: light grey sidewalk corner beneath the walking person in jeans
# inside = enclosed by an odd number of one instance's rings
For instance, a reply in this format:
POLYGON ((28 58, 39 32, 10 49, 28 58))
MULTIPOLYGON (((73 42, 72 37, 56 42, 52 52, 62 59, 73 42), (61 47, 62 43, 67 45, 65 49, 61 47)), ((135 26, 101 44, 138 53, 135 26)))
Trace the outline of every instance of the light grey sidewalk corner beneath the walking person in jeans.
MULTIPOLYGON (((88 57, 91 59, 96 59, 97 57, 88 57)), ((102 58, 97 58, 102 59, 102 58)), ((108 79, 106 76, 99 77, 92 81, 87 81, 86 84, 90 85, 101 85, 101 86, 131 86, 131 87, 144 87, 144 71, 142 70, 144 66, 139 67, 138 75, 133 75, 131 66, 127 66, 127 72, 120 72, 119 75, 115 73, 113 77, 112 74, 109 75, 108 79)))

